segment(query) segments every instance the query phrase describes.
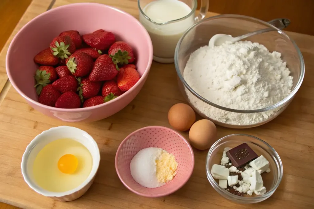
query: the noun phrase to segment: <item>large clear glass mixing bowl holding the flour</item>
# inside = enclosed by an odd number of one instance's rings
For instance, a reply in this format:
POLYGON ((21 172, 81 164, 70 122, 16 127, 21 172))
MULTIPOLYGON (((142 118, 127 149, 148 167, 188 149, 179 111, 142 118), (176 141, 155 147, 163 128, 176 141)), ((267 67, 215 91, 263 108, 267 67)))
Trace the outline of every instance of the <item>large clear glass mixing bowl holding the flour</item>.
MULTIPOLYGON (((178 75, 179 88, 193 109, 202 117, 210 119, 217 125, 228 128, 256 127, 276 118, 292 101, 295 93, 301 86, 305 71, 302 54, 295 42, 291 40, 287 34, 267 22, 242 15, 218 15, 203 19, 190 27, 185 34, 183 34, 176 46, 175 66, 178 75), (222 107, 203 98, 188 85, 183 77, 187 60, 192 52, 202 46, 208 45, 209 39, 212 36, 215 34, 230 34, 233 37, 236 37, 265 28, 273 28, 275 30, 254 35, 245 40, 263 44, 270 52, 277 51, 281 53, 281 59, 287 63, 287 67, 291 71, 290 75, 293 76, 293 86, 291 93, 287 97, 272 106, 262 109, 236 110, 222 107), (196 103, 200 104, 200 102, 203 102, 201 105, 202 108, 200 108, 200 105, 196 105, 196 103), (230 117, 231 115, 232 117, 237 117, 241 116, 237 114, 252 114, 250 117, 258 118, 258 120, 255 120, 253 123, 243 123, 242 121, 235 123, 228 119, 221 120, 215 117, 214 112, 217 112, 217 110, 220 114, 225 114, 227 118, 229 117, 228 115, 230 115, 230 117)), ((245 115, 245 117, 246 116, 248 115, 245 115)))

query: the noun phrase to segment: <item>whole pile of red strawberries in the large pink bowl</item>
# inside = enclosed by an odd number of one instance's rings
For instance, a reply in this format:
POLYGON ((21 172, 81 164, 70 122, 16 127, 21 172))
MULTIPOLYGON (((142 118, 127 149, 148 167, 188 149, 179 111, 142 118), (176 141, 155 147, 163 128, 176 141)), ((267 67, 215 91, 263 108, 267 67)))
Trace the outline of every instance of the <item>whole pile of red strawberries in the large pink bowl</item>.
POLYGON ((34 61, 38 101, 58 108, 91 107, 122 95, 139 80, 132 48, 96 30, 62 32, 34 61))

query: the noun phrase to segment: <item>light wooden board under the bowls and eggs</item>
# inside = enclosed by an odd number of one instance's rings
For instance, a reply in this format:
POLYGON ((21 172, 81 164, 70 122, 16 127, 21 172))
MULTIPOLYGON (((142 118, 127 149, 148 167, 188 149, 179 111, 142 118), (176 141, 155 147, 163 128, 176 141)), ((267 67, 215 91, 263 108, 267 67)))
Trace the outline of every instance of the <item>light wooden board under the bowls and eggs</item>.
MULTIPOLYGON (((21 208, 252 208, 238 205, 220 196, 209 184, 205 173, 207 151, 194 149, 192 177, 179 191, 161 198, 137 196, 122 185, 116 175, 114 157, 120 142, 131 132, 149 125, 170 127, 169 108, 185 102, 177 86, 173 64, 154 62, 150 75, 138 96, 114 116, 94 123, 66 123, 35 111, 5 79, 5 56, 8 43, 28 21, 50 8, 87 2, 86 0, 33 0, 0 55, 0 201, 21 208), (2 75, 2 76, 1 76, 2 75), (24 182, 20 163, 27 144, 51 127, 70 125, 91 134, 98 143, 101 162, 89 191, 72 202, 59 202, 32 191, 24 182)), ((138 17, 136 0, 89 0, 120 8, 138 17)), ((209 14, 213 15, 213 14, 209 14)), ((218 128, 218 137, 247 133, 262 138, 279 153, 284 176, 276 192, 254 208, 314 208, 314 37, 288 33, 300 47, 306 76, 289 107, 273 121, 256 128, 218 128)), ((188 137, 188 134, 182 133, 188 137)), ((5 208, 5 206, 3 207, 5 208)))

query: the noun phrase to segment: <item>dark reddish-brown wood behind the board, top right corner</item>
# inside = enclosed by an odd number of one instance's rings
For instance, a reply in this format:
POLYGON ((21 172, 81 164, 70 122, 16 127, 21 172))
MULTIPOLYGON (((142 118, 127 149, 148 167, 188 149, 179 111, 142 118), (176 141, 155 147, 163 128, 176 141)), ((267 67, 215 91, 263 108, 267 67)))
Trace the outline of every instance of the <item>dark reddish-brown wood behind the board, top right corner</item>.
MULTIPOLYGON (((201 0, 198 0, 200 5, 201 0)), ((209 11, 220 14, 241 14, 264 21, 289 18, 288 31, 314 35, 313 0, 209 0, 209 11)))

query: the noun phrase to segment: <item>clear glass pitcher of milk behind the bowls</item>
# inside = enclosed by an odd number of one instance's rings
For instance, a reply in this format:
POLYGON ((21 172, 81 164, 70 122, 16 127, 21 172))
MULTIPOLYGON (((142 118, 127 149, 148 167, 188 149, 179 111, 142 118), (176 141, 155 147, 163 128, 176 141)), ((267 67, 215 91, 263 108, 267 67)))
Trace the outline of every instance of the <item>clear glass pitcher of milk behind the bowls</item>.
POLYGON ((152 39, 154 61, 160 63, 174 62, 176 44, 189 27, 205 17, 208 11, 208 0, 201 0, 198 16, 195 15, 196 8, 197 0, 138 0, 139 21, 152 39), (163 11, 158 11, 161 4, 164 8, 165 5, 169 5, 169 7, 163 11), (181 18, 163 22, 161 19, 152 18, 156 12, 161 13, 163 19, 171 19, 171 17, 186 14, 181 18))

